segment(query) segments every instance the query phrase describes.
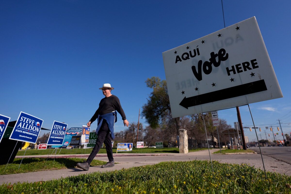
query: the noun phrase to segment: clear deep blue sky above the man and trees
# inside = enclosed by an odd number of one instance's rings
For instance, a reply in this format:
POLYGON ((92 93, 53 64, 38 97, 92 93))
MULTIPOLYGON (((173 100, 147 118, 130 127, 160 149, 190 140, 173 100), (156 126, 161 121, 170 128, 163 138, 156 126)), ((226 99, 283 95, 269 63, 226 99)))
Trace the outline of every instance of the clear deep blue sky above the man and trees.
MULTIPOLYGON (((277 127, 278 119, 291 132, 290 7, 290 1, 223 1, 226 26, 256 17, 283 92, 250 104, 262 138, 263 127, 277 127)), ((0 114, 13 121, 23 111, 47 129, 54 120, 69 128, 86 124, 104 97, 103 83, 111 83, 127 119, 137 122, 151 92, 145 80, 165 79, 162 52, 224 27, 219 0, 1 1, 0 16, 0 114)), ((243 126, 252 125, 248 107, 240 113, 243 126)), ((237 121, 235 108, 218 114, 232 126, 237 121)), ((116 131, 124 130, 118 119, 116 131)), ((245 135, 255 138, 254 130, 245 135)))

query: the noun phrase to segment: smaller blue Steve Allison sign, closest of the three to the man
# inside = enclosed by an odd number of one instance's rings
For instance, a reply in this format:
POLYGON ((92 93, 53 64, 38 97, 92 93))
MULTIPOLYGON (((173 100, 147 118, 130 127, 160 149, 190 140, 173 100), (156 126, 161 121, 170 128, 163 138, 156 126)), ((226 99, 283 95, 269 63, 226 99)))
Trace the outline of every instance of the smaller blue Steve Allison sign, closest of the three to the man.
POLYGON ((63 145, 68 124, 54 121, 47 145, 63 145))

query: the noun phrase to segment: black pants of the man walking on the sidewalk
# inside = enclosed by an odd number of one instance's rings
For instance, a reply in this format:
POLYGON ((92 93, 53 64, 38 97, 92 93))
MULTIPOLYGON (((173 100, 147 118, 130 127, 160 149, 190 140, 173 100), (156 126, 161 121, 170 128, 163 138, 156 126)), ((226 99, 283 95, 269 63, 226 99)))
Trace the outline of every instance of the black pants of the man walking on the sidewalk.
POLYGON ((86 162, 88 162, 89 164, 92 162, 92 160, 95 158, 96 154, 99 152, 103 142, 106 146, 106 152, 107 152, 107 157, 108 157, 109 161, 113 161, 113 152, 112 152, 112 146, 111 146, 110 130, 108 128, 106 121, 104 121, 104 120, 103 120, 103 123, 100 127, 100 130, 98 131, 96 145, 94 146, 94 148, 93 148, 90 156, 86 160, 86 162))

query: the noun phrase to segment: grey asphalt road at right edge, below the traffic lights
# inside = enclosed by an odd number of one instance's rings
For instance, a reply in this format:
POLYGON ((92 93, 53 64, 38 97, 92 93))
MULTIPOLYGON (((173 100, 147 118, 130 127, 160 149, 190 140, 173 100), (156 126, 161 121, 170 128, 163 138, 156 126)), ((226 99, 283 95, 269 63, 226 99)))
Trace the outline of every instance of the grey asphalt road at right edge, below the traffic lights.
MULTIPOLYGON (((259 147, 251 147, 251 150, 260 154, 259 147)), ((291 147, 261 147, 262 154, 291 164, 291 147)))

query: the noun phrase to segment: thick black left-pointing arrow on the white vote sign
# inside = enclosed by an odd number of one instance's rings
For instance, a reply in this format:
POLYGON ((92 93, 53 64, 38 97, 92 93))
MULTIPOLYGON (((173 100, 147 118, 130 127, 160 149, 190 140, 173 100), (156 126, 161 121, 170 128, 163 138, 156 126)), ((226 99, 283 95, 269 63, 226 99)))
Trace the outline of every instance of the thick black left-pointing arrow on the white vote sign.
POLYGON ((262 79, 259 81, 253 81, 253 82, 245 83, 239 86, 233 86, 230 88, 225 88, 225 89, 217 90, 214 92, 192 96, 189 98, 184 97, 179 105, 188 109, 188 107, 191 107, 191 106, 197 106, 200 104, 216 102, 219 100, 253 94, 253 93, 262 92, 265 90, 267 90, 267 87, 266 87, 265 81, 262 79))

